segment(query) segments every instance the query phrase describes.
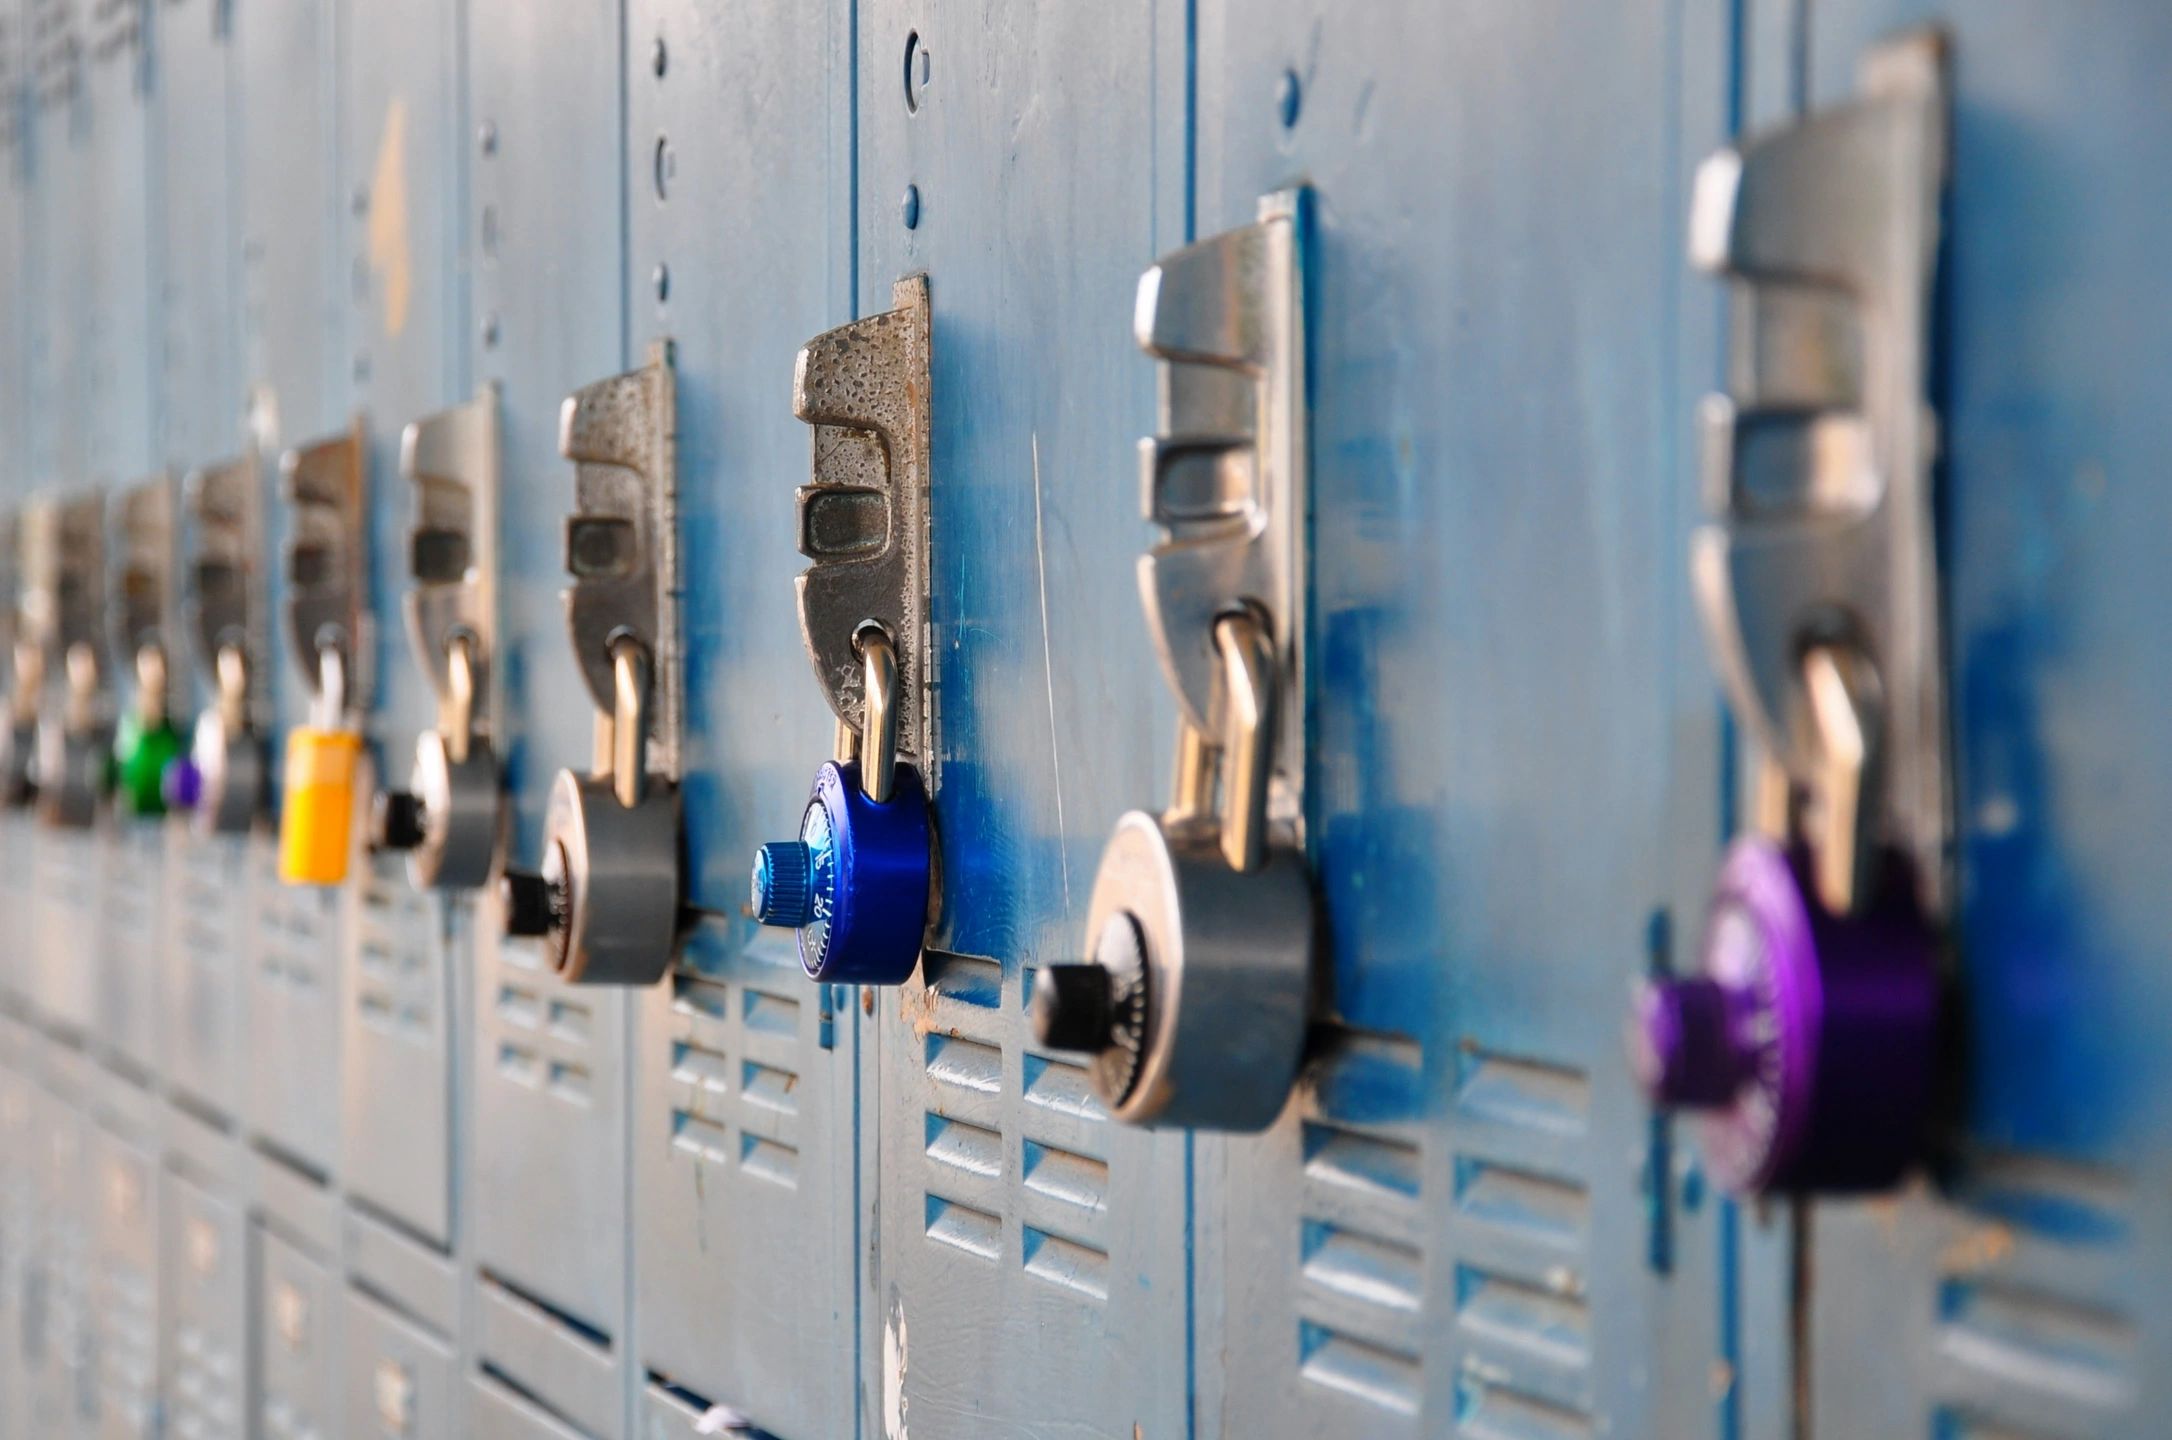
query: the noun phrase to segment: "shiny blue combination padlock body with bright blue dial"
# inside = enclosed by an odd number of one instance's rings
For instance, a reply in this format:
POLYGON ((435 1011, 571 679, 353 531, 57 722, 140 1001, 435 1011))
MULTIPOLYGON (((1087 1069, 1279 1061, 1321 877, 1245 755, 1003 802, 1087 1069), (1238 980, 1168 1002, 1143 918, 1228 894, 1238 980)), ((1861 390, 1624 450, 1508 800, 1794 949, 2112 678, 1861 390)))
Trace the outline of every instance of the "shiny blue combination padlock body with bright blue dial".
POLYGON ((858 760, 828 760, 815 771, 799 838, 756 856, 754 919, 799 932, 810 980, 901 984, 921 962, 932 845, 914 767, 897 765, 888 799, 871 799, 858 760))

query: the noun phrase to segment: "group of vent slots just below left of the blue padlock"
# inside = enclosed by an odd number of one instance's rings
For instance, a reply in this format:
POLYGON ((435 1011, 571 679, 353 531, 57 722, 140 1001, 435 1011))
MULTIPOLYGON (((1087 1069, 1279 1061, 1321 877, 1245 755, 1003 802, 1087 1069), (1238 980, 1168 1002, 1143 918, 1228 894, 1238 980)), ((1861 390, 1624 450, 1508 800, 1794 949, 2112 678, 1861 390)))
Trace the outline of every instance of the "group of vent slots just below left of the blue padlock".
MULTIPOLYGON (((689 953, 704 958, 699 945, 689 953)), ((797 973, 791 943, 771 936, 715 969, 671 973, 671 1140, 697 1164, 799 1186, 797 973)), ((560 1008, 547 1023, 582 1030, 591 1016, 560 1008)))

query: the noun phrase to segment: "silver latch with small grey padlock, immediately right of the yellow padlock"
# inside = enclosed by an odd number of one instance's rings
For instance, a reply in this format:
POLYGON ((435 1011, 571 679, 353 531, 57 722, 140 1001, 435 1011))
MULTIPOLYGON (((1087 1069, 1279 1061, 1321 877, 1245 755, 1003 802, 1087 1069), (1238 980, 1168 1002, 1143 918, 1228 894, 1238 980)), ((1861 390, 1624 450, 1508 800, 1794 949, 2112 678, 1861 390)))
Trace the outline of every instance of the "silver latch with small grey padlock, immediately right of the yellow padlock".
POLYGON ((493 738, 497 654, 497 389, 426 415, 400 441, 415 487, 406 628, 437 695, 404 791, 380 791, 371 843, 421 888, 473 890, 497 864, 504 786, 493 738))

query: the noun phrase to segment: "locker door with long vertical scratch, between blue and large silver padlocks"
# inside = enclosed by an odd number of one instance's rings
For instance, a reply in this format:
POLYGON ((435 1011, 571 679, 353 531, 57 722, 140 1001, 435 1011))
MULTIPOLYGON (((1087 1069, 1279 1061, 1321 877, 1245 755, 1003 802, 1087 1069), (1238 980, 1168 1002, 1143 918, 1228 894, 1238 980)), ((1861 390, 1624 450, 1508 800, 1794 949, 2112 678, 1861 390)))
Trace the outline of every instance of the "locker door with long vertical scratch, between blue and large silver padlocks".
POLYGON ((1175 734, 1138 610, 1140 271, 1184 239, 1182 7, 864 4, 858 295, 934 306, 925 984, 871 997, 867 1423, 1184 1433, 1190 1155, 1025 1023, 1175 734))

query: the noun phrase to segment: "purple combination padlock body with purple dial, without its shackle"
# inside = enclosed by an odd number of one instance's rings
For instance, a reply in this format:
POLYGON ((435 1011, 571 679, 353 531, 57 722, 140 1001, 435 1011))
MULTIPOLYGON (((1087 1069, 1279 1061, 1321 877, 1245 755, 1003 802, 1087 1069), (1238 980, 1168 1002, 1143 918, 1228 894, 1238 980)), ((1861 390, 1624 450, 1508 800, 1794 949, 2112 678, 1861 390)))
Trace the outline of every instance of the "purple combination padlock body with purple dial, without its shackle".
POLYGON ((1701 973, 1638 997, 1655 1106, 1701 1116, 1735 1192, 1874 1190, 1922 1153, 1937 1062, 1937 940, 1907 886, 1833 917, 1766 838, 1727 851, 1701 973))

